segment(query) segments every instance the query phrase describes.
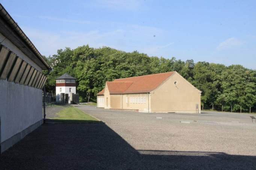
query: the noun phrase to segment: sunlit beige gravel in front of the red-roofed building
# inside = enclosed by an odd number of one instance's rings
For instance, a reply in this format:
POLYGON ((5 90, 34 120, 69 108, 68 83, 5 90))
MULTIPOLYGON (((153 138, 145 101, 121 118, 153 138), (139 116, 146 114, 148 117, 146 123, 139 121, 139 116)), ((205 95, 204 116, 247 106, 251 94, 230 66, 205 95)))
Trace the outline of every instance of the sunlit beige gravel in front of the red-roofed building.
POLYGON ((136 150, 256 156, 256 123, 251 122, 250 114, 137 113, 81 105, 78 108, 101 119, 136 150))

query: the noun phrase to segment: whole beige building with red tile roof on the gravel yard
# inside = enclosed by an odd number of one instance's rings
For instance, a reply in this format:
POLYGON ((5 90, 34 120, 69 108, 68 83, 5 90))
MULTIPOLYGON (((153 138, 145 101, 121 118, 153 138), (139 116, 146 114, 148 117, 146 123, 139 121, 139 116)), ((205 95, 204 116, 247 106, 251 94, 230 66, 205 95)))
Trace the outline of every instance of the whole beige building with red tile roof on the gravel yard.
POLYGON ((97 107, 140 112, 200 113, 200 90, 177 72, 107 81, 97 107))

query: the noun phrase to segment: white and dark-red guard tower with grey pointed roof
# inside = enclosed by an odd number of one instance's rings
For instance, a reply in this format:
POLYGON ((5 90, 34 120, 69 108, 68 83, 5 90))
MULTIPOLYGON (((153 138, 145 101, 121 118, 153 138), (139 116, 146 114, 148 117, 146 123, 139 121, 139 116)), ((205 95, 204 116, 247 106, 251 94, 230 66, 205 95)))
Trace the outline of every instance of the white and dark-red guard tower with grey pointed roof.
POLYGON ((66 101, 71 104, 72 94, 76 94, 75 80, 67 73, 56 78, 56 102, 66 101))

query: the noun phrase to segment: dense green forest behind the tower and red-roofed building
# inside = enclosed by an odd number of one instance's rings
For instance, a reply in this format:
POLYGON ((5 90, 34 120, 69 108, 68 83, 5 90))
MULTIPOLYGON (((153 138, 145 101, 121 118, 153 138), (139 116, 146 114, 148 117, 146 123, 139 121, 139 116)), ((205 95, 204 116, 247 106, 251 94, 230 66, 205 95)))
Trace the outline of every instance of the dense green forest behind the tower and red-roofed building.
MULTIPOLYGON (((96 98, 105 81, 160 72, 177 71, 197 89, 202 91, 202 107, 248 112, 256 110, 256 70, 241 65, 177 60, 175 57, 149 57, 134 51, 126 53, 109 47, 90 48, 89 45, 74 50, 58 50, 47 58, 53 65, 48 75, 46 89, 55 93, 55 78, 67 72, 77 78, 80 101, 96 98)), ((47 74, 47 72, 45 72, 47 74)))

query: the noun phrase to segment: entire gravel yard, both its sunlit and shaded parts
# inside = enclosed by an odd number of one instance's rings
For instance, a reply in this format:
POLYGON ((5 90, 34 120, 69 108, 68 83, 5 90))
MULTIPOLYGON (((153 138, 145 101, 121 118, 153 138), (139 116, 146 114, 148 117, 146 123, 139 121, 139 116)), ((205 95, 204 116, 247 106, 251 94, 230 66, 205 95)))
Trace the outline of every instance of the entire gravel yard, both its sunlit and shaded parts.
POLYGON ((44 124, 3 153, 0 169, 256 167, 256 123, 248 114, 149 114, 77 107, 105 123, 44 124))

